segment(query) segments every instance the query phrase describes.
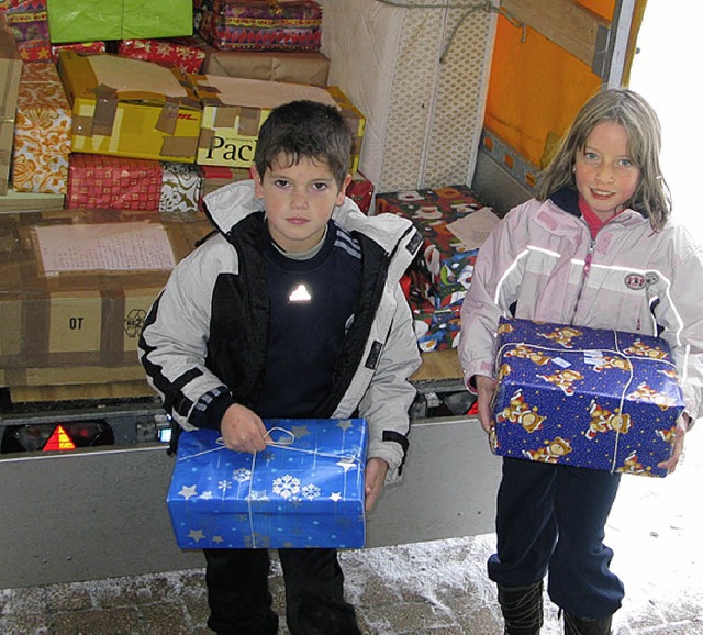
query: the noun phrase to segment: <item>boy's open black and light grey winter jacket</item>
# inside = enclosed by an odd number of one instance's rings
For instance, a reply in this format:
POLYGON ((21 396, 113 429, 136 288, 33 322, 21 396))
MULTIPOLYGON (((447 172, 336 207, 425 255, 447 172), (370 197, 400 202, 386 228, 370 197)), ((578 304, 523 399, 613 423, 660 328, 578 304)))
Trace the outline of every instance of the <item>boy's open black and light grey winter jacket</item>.
MULTIPOLYGON (((205 204, 217 233, 174 269, 140 338, 147 379, 185 430, 207 426, 223 404, 254 408, 268 343, 263 202, 253 181, 239 181, 205 204)), ((406 219, 366 216, 348 198, 332 219, 360 245, 361 291, 332 389, 311 416, 365 417, 369 457, 388 463, 392 481, 408 449, 415 396, 408 378, 421 364, 399 281, 422 238, 406 219)))

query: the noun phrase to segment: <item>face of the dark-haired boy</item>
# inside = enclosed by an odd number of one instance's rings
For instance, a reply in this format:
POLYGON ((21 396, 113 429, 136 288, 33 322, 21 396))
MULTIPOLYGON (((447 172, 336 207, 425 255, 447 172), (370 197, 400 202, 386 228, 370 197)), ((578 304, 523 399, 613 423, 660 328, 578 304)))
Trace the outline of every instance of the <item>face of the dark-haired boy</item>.
POLYGON ((288 166, 279 156, 261 177, 254 168, 256 196, 264 201, 268 230, 279 247, 289 253, 312 249, 324 236, 335 205, 344 202, 344 187, 337 182, 325 161, 301 158, 288 166))

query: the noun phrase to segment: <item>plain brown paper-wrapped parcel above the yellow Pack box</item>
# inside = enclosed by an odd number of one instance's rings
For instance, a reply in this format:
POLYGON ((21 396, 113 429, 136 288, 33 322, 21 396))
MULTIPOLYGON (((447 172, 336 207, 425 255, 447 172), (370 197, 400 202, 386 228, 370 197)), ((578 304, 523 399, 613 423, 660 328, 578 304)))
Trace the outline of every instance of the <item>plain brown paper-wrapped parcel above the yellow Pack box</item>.
POLYGON ((331 60, 319 52, 219 51, 209 44, 200 46, 205 53, 203 75, 327 86, 331 60))

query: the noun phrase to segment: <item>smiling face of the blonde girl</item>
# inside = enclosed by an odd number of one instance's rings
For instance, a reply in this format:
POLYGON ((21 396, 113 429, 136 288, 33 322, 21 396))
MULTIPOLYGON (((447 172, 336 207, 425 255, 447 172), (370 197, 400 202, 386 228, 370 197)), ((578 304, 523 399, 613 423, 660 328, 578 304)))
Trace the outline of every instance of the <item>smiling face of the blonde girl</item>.
POLYGON ((576 153, 576 187, 602 220, 621 212, 639 185, 639 167, 627 154, 627 132, 614 121, 598 124, 576 153))

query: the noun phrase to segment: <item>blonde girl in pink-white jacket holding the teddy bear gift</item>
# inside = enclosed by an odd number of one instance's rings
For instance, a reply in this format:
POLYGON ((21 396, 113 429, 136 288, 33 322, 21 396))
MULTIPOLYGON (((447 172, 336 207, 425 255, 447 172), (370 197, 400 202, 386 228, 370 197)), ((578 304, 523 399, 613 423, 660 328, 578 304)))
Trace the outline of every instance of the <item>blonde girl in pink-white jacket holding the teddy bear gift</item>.
MULTIPOLYGON (((691 421, 703 414, 703 252, 669 222, 659 149, 651 107, 633 91, 602 90, 578 113, 536 198, 509 212, 481 248, 459 358, 486 432, 501 315, 659 335, 685 398, 673 455, 660 464, 676 468, 691 421)), ((539 633, 547 572, 565 633, 611 632, 624 589, 602 541, 618 482, 606 471, 503 458, 488 571, 505 633, 539 633)))

